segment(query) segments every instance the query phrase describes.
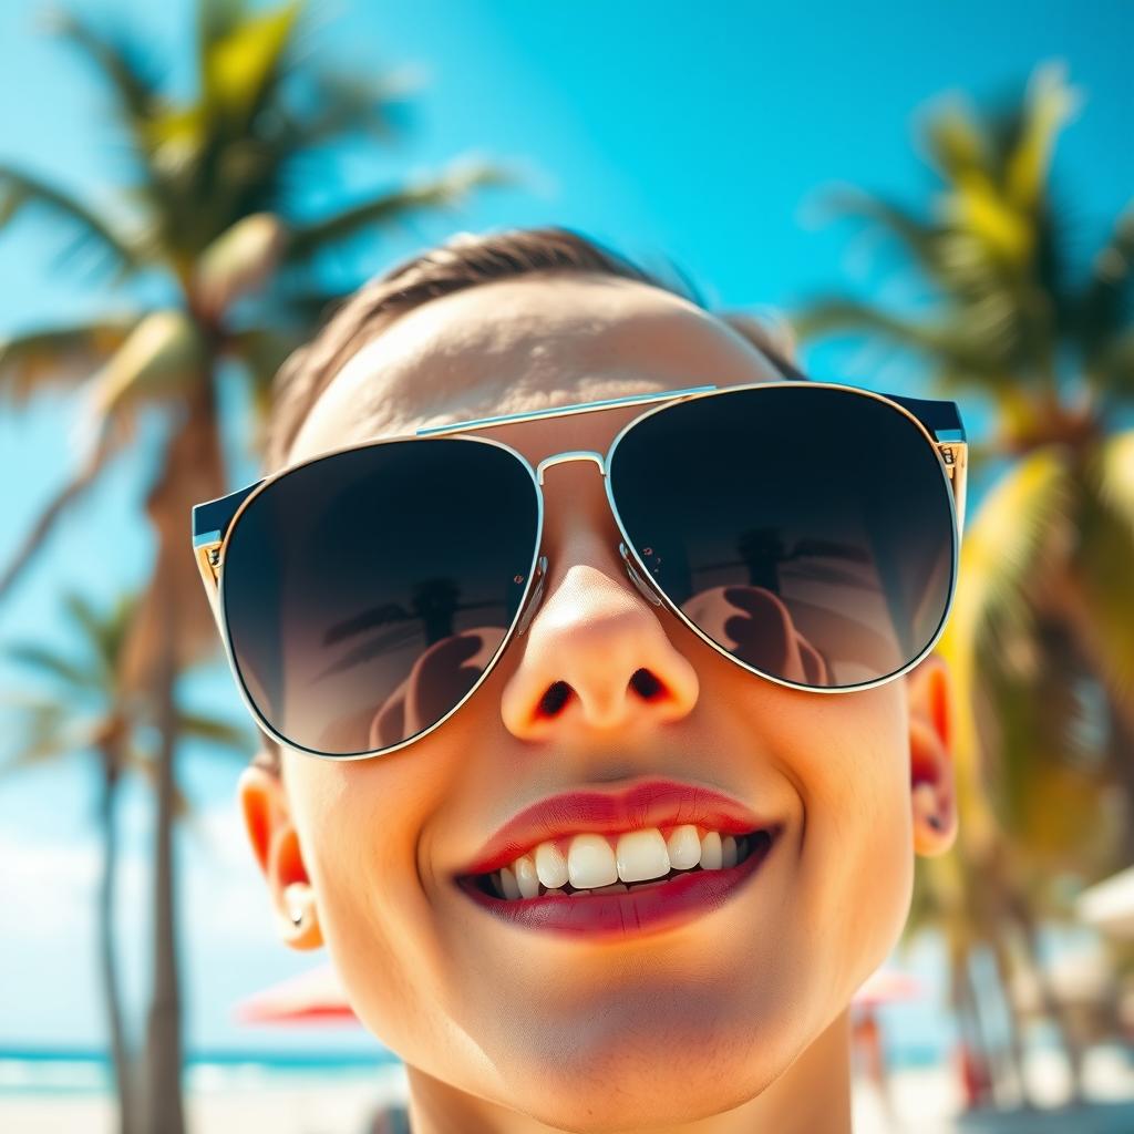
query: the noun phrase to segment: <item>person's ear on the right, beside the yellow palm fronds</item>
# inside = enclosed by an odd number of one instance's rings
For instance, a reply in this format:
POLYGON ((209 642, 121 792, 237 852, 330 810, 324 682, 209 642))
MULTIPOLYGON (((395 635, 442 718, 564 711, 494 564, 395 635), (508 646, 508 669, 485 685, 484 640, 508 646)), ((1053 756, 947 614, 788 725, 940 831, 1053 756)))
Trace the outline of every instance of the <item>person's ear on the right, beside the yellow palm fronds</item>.
POLYGON ((953 764, 953 683, 940 654, 930 653, 906 675, 909 705, 909 797, 914 850, 945 854, 957 837, 953 764))

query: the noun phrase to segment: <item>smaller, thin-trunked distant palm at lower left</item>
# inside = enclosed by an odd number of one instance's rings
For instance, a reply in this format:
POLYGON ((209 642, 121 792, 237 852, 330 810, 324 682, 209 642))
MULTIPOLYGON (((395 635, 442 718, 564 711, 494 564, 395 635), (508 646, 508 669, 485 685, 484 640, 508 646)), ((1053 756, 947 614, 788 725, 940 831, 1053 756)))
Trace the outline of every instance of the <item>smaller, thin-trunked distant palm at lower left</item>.
MULTIPOLYGON (((8 697, 14 709, 16 739, 0 773, 54 764, 77 754, 93 759, 99 777, 95 819, 102 843, 98 889, 96 924, 99 971, 110 1035, 111 1065, 118 1094, 120 1134, 134 1134, 137 1094, 134 1060, 130 1058, 122 1016, 121 993, 115 949, 113 912, 119 864, 117 822, 118 789, 129 772, 153 776, 153 725, 147 704, 133 695, 121 679, 121 658, 129 632, 136 594, 124 594, 105 611, 95 609, 79 594, 68 593, 62 606, 71 637, 79 643, 77 655, 35 642, 18 643, 6 651, 9 660, 45 678, 48 688, 35 694, 8 697)), ((181 736, 205 739, 212 745, 248 754, 254 737, 246 727, 198 714, 180 713, 181 736)), ((174 797, 174 813, 189 814, 184 796, 174 797)))

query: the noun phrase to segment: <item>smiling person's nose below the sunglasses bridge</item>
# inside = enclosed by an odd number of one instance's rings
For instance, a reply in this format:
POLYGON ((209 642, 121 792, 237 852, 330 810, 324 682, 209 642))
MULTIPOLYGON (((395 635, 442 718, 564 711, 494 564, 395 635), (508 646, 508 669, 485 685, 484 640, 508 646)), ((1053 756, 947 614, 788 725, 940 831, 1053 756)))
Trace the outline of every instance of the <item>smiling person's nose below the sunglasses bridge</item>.
POLYGON ((543 596, 516 640, 524 652, 500 703, 505 726, 522 739, 648 730, 697 701, 696 670, 670 642, 663 608, 632 582, 593 469, 587 479, 590 491, 573 493, 566 510, 550 507, 545 490, 543 596))

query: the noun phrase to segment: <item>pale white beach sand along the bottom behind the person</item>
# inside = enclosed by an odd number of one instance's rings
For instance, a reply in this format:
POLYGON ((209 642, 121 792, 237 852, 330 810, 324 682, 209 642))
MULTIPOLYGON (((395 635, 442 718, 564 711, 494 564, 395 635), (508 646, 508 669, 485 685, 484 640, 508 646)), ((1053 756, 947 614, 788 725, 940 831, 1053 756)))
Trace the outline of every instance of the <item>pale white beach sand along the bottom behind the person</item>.
MULTIPOLYGON (((951 1068, 906 1067, 890 1076, 891 1116, 875 1088, 856 1077, 855 1134, 1131 1134, 1134 1131, 1134 1066, 1119 1048, 1089 1052, 1084 1082, 1094 1106, 1074 1115, 1057 1109, 1066 1099, 1066 1068, 1053 1052, 1034 1052, 1027 1074, 1042 1109, 1030 1115, 960 1117, 951 1068)), ((42 1076, 41 1076, 42 1077, 42 1076)), ((104 1091, 56 1076, 53 1085, 26 1080, 0 1059, 0 1131, 6 1134, 112 1134, 113 1107, 104 1091)), ((373 1067, 276 1069, 257 1064, 202 1065, 186 1077, 189 1134, 364 1134, 384 1102, 404 1100, 401 1064, 373 1067)))

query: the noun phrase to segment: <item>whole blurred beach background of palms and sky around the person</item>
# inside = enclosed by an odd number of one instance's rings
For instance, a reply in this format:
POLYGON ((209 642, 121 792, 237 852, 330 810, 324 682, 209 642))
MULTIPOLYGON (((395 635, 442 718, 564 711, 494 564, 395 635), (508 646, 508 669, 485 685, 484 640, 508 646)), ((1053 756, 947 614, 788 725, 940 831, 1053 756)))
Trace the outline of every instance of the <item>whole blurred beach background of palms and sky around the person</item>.
POLYGON ((861 993, 856 1131, 1134 1131, 1134 9, 0 6, 0 1129, 366 1129, 277 939, 189 507, 280 361, 557 223, 960 405, 960 835, 861 993), (667 265, 669 268, 667 269, 667 265), (251 1124, 251 1126, 249 1126, 251 1124))

